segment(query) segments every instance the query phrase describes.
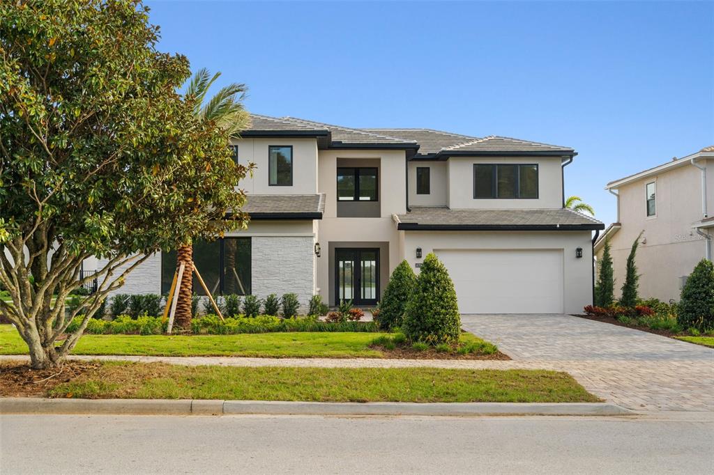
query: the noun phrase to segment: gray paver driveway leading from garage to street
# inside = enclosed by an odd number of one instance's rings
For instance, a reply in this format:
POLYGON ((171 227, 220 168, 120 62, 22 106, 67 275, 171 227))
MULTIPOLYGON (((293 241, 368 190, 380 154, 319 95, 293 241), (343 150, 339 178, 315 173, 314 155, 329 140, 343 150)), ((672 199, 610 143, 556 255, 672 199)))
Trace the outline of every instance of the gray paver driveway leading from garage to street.
POLYGON ((714 349, 570 315, 463 315, 519 367, 567 371, 630 409, 714 411, 714 349))

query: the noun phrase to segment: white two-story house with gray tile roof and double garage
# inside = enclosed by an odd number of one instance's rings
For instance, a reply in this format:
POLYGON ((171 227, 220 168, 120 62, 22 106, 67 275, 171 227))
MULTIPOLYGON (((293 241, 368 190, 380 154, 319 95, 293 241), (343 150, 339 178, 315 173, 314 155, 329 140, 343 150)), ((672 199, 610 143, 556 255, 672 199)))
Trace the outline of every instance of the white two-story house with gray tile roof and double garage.
MULTIPOLYGON (((592 301, 592 231, 563 208, 572 148, 428 129, 356 129, 252 116, 234 141, 247 230, 197 243, 211 290, 306 305, 376 305, 390 272, 444 262, 464 313, 580 312, 592 301)), ((166 292, 174 252, 156 255, 121 292, 166 292)), ((196 292, 201 288, 194 286, 196 292)))

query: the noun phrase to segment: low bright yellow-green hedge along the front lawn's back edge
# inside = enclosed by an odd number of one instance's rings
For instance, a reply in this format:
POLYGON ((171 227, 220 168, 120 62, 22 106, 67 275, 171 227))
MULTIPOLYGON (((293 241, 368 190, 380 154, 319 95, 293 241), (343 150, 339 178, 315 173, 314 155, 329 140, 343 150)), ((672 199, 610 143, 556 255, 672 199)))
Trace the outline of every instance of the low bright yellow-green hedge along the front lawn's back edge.
MULTIPOLYGON (((81 325, 83 317, 76 317, 67 328, 73 332, 81 325)), ((164 334, 166 320, 161 317, 139 317, 132 319, 129 315, 120 315, 115 320, 90 320, 84 331, 87 334, 164 334)), ((378 332, 374 322, 321 322, 314 317, 298 317, 282 319, 261 315, 259 317, 226 318, 223 322, 218 315, 191 320, 193 334, 238 334, 238 333, 270 333, 270 332, 378 332)))

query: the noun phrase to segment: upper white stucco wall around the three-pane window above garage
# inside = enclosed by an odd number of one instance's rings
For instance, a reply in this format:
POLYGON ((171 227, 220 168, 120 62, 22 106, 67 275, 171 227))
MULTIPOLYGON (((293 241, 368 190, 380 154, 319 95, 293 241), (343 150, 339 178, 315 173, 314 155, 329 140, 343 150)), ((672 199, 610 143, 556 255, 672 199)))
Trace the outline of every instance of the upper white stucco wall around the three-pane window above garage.
POLYGON ((562 208, 563 185, 560 157, 554 158, 456 158, 448 159, 448 206, 452 209, 496 208, 562 208), (537 199, 474 199, 473 165, 476 163, 517 163, 538 165, 537 199))

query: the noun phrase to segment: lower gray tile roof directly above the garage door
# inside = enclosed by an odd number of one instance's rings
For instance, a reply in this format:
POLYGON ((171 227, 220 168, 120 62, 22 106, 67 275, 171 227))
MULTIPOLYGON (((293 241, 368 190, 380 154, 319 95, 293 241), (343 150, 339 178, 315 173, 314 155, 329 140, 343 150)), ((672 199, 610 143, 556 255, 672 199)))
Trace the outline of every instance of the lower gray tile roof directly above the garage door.
POLYGON ((399 229, 452 228, 475 230, 503 229, 604 229, 605 225, 589 216, 565 208, 531 210, 451 210, 417 207, 394 215, 399 229))

